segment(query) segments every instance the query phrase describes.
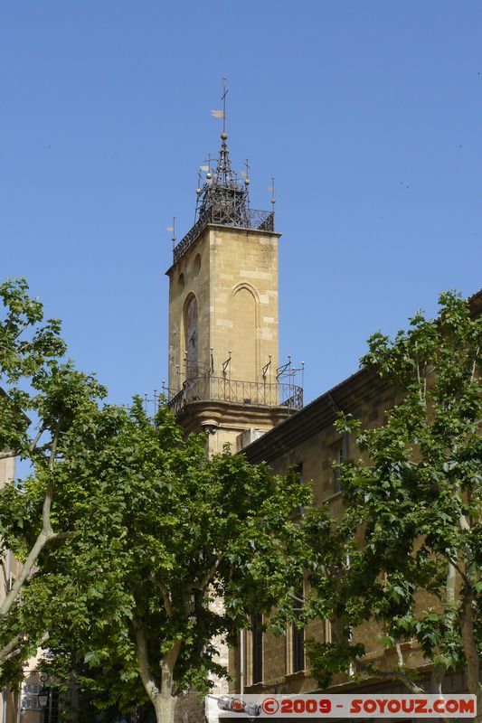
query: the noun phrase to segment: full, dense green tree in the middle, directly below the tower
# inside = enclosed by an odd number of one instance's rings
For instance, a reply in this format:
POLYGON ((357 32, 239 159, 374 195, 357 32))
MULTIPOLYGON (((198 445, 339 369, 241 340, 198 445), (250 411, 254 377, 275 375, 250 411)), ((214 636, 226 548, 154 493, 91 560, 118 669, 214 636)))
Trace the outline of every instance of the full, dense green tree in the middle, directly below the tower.
POLYGON ((59 523, 76 534, 37 575, 52 590, 52 666, 81 671, 104 705, 147 697, 166 723, 179 691, 225 673, 213 639, 234 643, 250 613, 296 585, 302 541, 290 516, 308 494, 228 449, 209 459, 203 436, 184 437, 166 408, 149 419, 140 399, 104 408, 94 430, 89 445, 72 437, 60 472, 59 523))

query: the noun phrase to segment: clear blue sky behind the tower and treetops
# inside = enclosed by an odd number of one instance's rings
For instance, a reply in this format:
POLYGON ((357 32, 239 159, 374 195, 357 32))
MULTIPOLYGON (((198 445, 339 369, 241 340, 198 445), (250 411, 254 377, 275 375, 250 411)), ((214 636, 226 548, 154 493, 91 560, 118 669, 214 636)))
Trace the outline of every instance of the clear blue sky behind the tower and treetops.
POLYGON ((169 233, 229 82, 251 205, 276 176, 280 359, 307 400, 439 292, 482 286, 479 0, 17 0, 0 7, 2 277, 111 399, 166 376, 169 233))

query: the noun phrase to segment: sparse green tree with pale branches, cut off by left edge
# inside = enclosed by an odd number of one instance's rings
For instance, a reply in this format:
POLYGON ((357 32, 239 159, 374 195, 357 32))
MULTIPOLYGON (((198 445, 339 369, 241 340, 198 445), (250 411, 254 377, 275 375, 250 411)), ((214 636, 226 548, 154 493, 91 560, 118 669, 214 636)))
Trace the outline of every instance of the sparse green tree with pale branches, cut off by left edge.
POLYGON ((105 390, 90 375, 63 362, 65 343, 60 322, 43 321, 42 304, 28 296, 24 279, 0 286, 4 316, 0 320, 0 459, 19 456, 33 465, 34 493, 21 494, 21 484, 0 490, 0 552, 11 549, 21 563, 12 588, 0 605, 0 671, 5 681, 22 673, 45 631, 29 637, 24 619, 27 588, 43 550, 71 531, 52 515, 57 492, 57 468, 65 440, 97 409, 105 390), (30 436, 30 415, 36 433, 30 436), (20 604, 22 601, 22 605, 20 604))

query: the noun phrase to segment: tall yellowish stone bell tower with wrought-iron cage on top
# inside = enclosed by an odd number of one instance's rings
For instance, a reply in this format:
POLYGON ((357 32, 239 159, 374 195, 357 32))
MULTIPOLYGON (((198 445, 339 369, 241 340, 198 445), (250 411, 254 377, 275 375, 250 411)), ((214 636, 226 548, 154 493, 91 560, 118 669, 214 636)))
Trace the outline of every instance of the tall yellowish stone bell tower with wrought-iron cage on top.
POLYGON ((225 130, 204 167, 196 222, 174 249, 169 277, 169 405, 211 452, 235 452, 302 406, 281 384, 278 239, 273 211, 250 208, 248 174, 232 171, 225 130))

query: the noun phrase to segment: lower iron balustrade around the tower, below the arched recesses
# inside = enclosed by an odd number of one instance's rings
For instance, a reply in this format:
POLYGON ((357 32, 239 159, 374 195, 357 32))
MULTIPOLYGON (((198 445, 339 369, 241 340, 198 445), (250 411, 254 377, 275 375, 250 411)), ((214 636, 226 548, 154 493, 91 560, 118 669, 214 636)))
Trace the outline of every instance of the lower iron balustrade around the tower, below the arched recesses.
POLYGON ((285 407, 288 411, 296 411, 303 407, 303 390, 295 384, 195 377, 184 381, 183 389, 169 400, 167 406, 180 414, 194 401, 229 401, 246 407, 285 407))

